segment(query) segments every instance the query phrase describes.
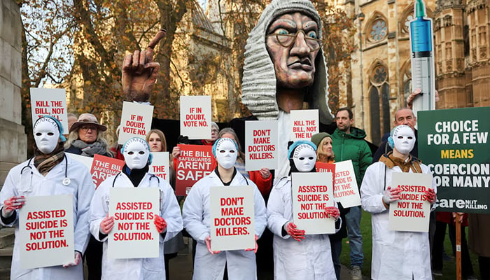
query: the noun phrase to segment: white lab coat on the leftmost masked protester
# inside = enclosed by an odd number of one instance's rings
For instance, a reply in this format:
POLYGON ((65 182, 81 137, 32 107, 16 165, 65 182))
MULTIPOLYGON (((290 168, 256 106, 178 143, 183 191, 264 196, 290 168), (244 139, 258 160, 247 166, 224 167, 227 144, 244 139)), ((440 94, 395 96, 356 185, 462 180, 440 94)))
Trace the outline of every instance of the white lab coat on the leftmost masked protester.
MULTIPOLYGON (((53 167, 46 176, 43 176, 34 167, 34 160, 22 162, 20 165, 13 167, 8 172, 7 179, 0 192, 0 206, 10 197, 24 195, 25 197, 47 196, 47 195, 73 195, 73 239, 75 241, 75 250, 80 253, 85 252, 87 248, 90 232, 88 229, 90 200, 94 194, 95 185, 92 182, 92 176, 87 167, 69 157, 64 158, 62 162, 53 167), (66 166, 68 162, 68 166, 66 166), (31 167, 30 169, 27 167, 31 167), (65 178, 64 172, 71 180, 68 186, 62 184, 65 178), (20 186, 20 172, 24 169, 23 176, 30 181, 31 188, 28 184, 20 186)), ((20 267, 20 239, 18 238, 19 213, 13 223, 6 226, 15 226, 15 243, 13 247, 12 267, 10 269, 10 279, 83 279, 83 264, 80 261, 76 267, 64 268, 62 265, 53 267, 41 267, 36 269, 22 269, 20 267)), ((1 225, 3 222, 1 222, 1 225)), ((73 252, 74 255, 74 252, 73 252)))

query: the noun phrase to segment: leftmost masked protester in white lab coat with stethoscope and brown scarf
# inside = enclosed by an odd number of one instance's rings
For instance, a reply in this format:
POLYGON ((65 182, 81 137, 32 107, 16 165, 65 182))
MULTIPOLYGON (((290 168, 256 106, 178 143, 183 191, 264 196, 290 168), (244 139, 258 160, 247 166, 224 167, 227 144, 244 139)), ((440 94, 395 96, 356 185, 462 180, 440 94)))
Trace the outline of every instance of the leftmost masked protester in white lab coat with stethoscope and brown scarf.
POLYGON ((66 139, 59 120, 43 116, 36 120, 33 131, 34 158, 11 169, 0 192, 0 224, 15 226, 10 279, 81 280, 83 264, 80 260, 90 237, 88 216, 95 190, 92 176, 86 167, 64 155, 66 139), (75 258, 66 265, 22 269, 18 210, 26 203, 26 197, 46 195, 73 195, 75 258))

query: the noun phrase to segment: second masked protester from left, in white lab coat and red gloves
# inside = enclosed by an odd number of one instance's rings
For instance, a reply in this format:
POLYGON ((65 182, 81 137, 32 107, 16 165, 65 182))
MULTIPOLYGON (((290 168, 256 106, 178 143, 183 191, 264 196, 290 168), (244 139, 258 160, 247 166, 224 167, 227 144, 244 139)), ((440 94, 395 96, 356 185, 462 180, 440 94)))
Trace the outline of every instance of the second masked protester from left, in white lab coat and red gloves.
POLYGON ((172 239, 182 230, 182 216, 172 187, 165 180, 148 173, 151 154, 144 139, 132 138, 123 146, 125 166, 123 172, 103 181, 95 191, 90 205, 90 232, 104 242, 102 279, 161 280, 165 279, 164 241, 172 239), (110 259, 107 256, 107 239, 114 226, 109 213, 111 188, 159 188, 160 214, 155 216, 155 227, 160 232, 158 258, 110 259))

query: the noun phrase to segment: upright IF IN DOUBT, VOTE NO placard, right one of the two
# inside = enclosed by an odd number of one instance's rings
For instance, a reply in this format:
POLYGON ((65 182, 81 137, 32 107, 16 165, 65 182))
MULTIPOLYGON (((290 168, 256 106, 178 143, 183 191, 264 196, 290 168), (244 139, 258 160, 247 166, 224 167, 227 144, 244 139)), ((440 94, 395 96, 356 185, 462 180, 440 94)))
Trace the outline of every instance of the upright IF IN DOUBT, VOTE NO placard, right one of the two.
POLYGON ((211 96, 181 96, 181 135, 211 139, 211 96))

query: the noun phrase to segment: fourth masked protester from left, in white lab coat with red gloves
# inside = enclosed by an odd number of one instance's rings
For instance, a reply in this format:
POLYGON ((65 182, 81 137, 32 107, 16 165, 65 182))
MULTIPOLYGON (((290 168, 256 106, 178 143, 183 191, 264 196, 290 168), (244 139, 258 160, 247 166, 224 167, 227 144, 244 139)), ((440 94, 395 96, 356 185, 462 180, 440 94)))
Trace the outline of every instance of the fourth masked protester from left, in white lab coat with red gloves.
MULTIPOLYGON (((288 149, 291 172, 316 172, 316 146, 311 141, 295 141, 288 149)), ((290 174, 289 174, 290 175, 290 174)), ((277 183, 267 204, 267 227, 274 233, 274 279, 335 280, 335 269, 328 235, 304 235, 293 223, 291 177, 277 183)), ((342 221, 337 207, 326 207, 335 219, 335 230, 342 221)))

